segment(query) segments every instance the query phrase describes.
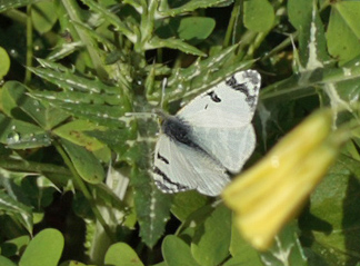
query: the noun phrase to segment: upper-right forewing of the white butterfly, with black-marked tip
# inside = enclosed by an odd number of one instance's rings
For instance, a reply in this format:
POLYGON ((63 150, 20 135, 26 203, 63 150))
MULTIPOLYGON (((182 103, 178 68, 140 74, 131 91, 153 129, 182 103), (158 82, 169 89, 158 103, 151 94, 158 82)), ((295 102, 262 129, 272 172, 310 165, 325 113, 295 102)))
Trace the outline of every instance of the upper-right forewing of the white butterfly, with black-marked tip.
POLYGON ((238 72, 196 97, 177 116, 198 127, 248 125, 258 102, 260 79, 254 70, 238 72))

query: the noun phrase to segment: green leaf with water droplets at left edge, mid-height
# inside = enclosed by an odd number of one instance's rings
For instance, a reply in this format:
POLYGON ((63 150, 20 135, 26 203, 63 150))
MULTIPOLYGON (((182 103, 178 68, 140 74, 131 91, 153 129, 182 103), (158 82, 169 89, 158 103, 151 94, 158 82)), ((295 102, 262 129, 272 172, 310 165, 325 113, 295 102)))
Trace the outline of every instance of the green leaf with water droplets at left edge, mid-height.
POLYGON ((51 145, 43 129, 0 114, 0 142, 12 149, 30 149, 51 145))

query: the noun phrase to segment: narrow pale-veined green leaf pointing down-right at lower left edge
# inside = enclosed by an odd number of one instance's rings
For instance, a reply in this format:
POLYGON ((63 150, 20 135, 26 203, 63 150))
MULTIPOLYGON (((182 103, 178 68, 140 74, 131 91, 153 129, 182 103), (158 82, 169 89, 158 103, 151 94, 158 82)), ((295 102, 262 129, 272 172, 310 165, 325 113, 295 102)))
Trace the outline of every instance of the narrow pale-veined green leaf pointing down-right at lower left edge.
MULTIPOLYGON (((0 175, 2 173, 0 173, 0 175)), ((31 208, 21 204, 18 199, 10 197, 2 190, 0 190, 0 209, 12 216, 14 220, 21 223, 21 225, 24 226, 29 233, 32 231, 31 208)))

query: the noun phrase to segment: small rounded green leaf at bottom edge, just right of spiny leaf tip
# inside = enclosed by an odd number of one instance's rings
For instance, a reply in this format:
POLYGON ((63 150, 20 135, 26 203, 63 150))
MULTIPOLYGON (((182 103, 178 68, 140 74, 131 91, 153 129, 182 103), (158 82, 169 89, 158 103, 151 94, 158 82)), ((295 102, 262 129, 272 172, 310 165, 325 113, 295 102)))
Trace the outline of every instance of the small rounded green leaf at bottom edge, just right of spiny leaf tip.
POLYGON ((162 242, 162 256, 168 266, 200 266, 183 240, 177 236, 167 236, 162 242))

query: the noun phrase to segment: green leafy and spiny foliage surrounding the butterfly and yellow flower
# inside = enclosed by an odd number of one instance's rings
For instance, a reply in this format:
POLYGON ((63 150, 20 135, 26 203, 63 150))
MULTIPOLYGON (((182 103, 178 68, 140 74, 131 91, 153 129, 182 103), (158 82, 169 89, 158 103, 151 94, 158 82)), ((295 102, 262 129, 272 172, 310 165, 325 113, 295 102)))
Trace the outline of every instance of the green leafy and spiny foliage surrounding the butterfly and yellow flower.
POLYGON ((360 265, 359 1, 0 0, 0 12, 1 266, 360 265), (248 165, 314 109, 347 110, 337 122, 356 128, 267 253, 221 203, 163 195, 149 174, 149 114, 248 68, 263 80, 248 165))

